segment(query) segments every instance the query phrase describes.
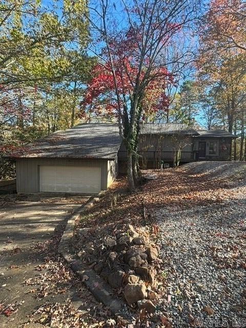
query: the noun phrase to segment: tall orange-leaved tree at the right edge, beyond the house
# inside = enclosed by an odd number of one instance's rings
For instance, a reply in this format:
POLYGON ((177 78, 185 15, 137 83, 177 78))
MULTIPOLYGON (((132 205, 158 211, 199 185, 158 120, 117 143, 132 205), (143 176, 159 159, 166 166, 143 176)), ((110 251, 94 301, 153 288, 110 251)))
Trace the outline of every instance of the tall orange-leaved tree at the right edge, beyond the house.
MULTIPOLYGON (((239 131, 243 135, 245 124, 240 119, 246 76, 245 26, 242 24, 245 13, 241 1, 213 0, 202 21, 205 28, 200 33, 200 77, 216 90, 215 99, 222 120, 235 135, 239 131)), ((233 157, 237 159, 236 139, 233 145, 233 157)), ((243 140, 240 148, 242 152, 243 140)))

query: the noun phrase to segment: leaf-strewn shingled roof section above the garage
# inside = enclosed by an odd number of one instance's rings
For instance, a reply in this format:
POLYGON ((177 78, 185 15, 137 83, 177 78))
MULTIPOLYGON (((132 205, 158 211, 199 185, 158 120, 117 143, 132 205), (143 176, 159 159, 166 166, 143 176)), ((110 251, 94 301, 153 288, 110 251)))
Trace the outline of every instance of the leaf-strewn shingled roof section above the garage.
POLYGON ((38 139, 10 157, 115 159, 121 142, 117 124, 79 124, 38 139))

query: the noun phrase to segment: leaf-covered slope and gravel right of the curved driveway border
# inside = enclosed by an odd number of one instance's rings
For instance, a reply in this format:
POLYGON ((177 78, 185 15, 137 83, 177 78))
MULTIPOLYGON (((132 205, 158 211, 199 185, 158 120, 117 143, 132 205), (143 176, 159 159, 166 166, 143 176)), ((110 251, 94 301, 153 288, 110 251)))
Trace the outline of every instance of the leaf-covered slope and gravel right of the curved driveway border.
POLYGON ((245 164, 233 162, 143 171, 150 180, 136 193, 120 179, 80 221, 92 236, 129 220, 151 226, 164 287, 154 326, 245 317, 245 173, 245 164))

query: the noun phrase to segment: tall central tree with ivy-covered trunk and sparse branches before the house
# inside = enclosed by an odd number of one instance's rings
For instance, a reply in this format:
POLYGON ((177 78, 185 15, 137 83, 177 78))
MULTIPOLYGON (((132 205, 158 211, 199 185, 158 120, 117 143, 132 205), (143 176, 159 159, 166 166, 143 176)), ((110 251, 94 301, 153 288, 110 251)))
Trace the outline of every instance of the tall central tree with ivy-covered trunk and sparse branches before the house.
MULTIPOLYGON (((108 0, 100 0, 99 4, 91 2, 90 23, 97 41, 91 45, 91 51, 97 55, 101 71, 108 72, 105 80, 111 92, 107 92, 107 97, 114 99, 119 133, 128 151, 130 190, 134 190, 137 180, 136 150, 144 110, 142 102, 151 84, 158 83, 163 89, 160 102, 166 105, 165 88, 171 74, 167 70, 169 63, 161 54, 173 37, 196 18, 197 5, 196 1, 186 0, 122 0, 117 6, 108 0)), ((91 94, 93 98, 105 95, 103 81, 99 95, 91 94)))

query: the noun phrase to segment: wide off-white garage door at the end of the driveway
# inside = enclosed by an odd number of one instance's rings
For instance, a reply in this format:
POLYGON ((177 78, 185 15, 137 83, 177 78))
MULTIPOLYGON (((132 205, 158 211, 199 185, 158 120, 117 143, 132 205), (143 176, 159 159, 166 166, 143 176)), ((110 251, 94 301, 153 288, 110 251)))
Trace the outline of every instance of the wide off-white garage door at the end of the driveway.
POLYGON ((41 192, 94 194, 101 190, 101 169, 78 166, 40 166, 41 192))

